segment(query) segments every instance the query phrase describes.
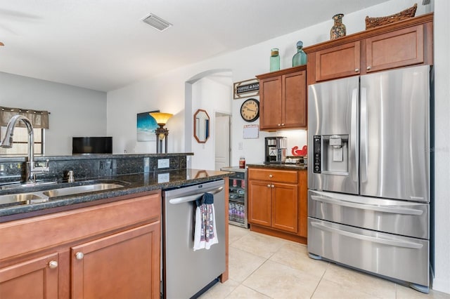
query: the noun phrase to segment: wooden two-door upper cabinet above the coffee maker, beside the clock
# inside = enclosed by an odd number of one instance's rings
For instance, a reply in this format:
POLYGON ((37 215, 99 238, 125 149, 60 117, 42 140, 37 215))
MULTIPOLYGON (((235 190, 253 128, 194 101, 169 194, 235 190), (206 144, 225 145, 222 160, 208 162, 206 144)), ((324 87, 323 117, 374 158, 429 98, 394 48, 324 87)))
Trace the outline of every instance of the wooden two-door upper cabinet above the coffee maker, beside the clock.
POLYGON ((306 77, 306 65, 257 75, 260 130, 307 126, 306 77))

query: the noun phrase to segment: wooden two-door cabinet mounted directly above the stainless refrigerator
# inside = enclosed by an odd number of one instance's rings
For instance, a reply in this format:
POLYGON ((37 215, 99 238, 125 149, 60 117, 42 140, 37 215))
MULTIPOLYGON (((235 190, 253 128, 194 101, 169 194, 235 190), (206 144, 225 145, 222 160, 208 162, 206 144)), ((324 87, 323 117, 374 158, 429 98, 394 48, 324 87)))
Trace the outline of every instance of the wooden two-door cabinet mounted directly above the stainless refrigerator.
POLYGON ((432 65, 433 14, 304 48, 308 55, 307 84, 371 72, 432 65))

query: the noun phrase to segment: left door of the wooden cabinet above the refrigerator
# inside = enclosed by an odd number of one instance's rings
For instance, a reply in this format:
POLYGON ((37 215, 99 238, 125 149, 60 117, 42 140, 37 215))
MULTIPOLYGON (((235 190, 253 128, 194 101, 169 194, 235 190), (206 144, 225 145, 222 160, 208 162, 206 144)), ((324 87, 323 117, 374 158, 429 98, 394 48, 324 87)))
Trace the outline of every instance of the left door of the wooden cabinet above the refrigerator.
POLYGON ((354 76, 360 73, 360 41, 316 52, 316 81, 354 76))

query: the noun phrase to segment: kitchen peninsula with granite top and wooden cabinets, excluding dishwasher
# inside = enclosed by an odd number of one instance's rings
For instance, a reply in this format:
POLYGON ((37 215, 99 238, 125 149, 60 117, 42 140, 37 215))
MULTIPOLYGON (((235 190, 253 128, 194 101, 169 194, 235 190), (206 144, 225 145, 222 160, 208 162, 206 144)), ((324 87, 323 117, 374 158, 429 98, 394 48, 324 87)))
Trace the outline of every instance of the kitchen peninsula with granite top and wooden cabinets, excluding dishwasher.
MULTIPOLYGON (((82 298, 114 293, 160 298, 161 190, 222 180, 230 174, 186 169, 189 155, 37 157, 38 163, 49 159, 50 171, 42 179, 56 182, 13 188, 25 158, 1 159, 0 197, 46 194, 92 183, 116 185, 80 194, 56 193, 36 203, 0 204, 0 297, 82 298), (75 182, 67 182, 68 171, 73 171, 75 182)), ((228 244, 227 230, 225 236, 222 242, 228 244)), ((226 263, 221 281, 227 279, 226 263)))

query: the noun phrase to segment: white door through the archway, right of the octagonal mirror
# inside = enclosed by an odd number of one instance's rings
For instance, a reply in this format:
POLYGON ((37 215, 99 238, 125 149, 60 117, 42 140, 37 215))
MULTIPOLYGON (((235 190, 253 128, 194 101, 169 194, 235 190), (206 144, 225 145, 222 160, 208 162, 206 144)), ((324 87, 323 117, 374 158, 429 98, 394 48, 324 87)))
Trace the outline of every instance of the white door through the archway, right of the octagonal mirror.
POLYGON ((216 113, 215 127, 215 170, 221 167, 230 166, 230 126, 231 117, 229 114, 216 113))

